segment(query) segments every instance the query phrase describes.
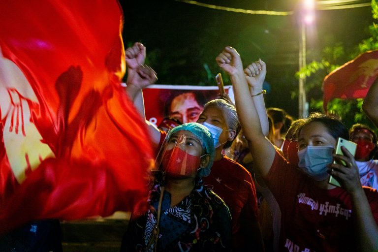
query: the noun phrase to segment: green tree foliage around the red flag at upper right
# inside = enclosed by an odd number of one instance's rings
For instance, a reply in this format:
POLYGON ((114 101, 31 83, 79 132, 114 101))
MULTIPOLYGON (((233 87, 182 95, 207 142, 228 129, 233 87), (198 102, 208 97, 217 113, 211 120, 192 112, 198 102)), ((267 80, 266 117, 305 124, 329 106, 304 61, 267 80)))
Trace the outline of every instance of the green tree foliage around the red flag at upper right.
MULTIPOLYGON (((372 14, 378 19, 378 2, 372 0, 372 14)), ((327 46, 321 53, 321 59, 312 61, 295 74, 296 78, 307 78, 306 92, 309 100, 310 112, 323 112, 321 85, 328 73, 340 65, 356 58, 370 50, 378 50, 378 25, 373 22, 368 28, 369 37, 358 45, 346 50, 342 42, 327 46)), ((328 113, 338 116, 348 126, 355 123, 367 124, 374 128, 370 120, 362 111, 363 99, 333 99, 328 103, 328 113)))

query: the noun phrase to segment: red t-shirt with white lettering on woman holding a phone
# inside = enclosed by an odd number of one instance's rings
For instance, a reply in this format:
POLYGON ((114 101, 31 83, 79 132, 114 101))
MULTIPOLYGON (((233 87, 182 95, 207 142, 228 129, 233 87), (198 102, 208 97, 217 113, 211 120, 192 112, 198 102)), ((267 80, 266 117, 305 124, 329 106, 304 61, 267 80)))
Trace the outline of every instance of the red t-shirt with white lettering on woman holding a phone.
MULTIPOLYGON (((297 164, 276 153, 266 178, 282 212, 280 251, 357 251, 348 192, 316 187, 297 164)), ((378 192, 364 190, 378 222, 378 192)))

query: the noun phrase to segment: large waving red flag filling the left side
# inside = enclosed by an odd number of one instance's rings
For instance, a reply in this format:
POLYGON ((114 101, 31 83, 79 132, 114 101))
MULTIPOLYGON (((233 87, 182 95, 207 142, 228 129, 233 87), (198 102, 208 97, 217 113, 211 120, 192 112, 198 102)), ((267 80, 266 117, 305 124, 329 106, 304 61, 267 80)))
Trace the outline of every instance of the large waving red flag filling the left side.
POLYGON ((131 211, 152 148, 120 85, 116 0, 0 1, 0 232, 131 211))

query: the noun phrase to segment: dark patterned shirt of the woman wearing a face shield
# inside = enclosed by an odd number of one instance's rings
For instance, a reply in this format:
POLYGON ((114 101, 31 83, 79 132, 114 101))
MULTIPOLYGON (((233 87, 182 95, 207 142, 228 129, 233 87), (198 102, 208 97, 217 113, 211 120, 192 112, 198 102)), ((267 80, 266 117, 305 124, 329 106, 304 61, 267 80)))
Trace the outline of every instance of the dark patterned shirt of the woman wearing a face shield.
MULTIPOLYGON (((157 223, 160 185, 150 192, 147 213, 130 221, 121 251, 153 252, 148 244, 157 223)), ((157 251, 212 252, 231 250, 231 216, 223 200, 197 179, 191 193, 170 207, 171 195, 163 192, 157 251)))

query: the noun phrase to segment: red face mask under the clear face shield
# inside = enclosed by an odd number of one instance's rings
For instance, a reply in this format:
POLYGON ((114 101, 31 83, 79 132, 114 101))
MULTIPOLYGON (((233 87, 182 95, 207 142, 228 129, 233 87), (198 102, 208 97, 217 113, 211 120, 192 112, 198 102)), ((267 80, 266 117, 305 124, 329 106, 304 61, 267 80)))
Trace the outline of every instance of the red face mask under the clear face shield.
POLYGON ((198 170, 200 162, 200 157, 189 155, 178 147, 166 151, 162 159, 164 171, 177 178, 190 177, 198 170))

